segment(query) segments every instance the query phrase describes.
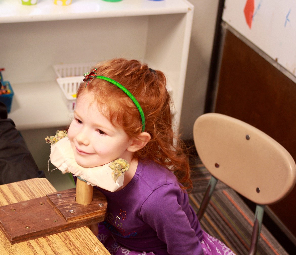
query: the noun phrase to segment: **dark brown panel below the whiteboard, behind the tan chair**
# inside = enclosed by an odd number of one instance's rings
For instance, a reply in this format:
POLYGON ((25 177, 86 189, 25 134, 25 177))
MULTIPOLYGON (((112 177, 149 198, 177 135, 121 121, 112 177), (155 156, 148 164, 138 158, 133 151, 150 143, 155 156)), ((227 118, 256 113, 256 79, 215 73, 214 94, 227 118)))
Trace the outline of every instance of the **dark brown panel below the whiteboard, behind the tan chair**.
MULTIPOLYGON (((215 112, 262 130, 282 144, 296 161, 296 84, 229 31, 215 112)), ((271 209, 296 236, 295 202, 296 188, 271 209)))

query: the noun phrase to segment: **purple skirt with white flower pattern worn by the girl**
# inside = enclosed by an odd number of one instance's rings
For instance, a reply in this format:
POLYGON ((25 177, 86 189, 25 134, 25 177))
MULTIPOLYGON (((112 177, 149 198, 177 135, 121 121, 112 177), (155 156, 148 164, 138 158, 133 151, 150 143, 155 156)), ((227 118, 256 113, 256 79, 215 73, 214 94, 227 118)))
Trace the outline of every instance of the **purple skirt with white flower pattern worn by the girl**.
MULTIPOLYGON (((111 255, 157 255, 153 252, 131 251, 128 248, 117 243, 110 231, 103 225, 99 225, 99 241, 106 247, 111 255)), ((204 251, 204 255, 235 255, 224 243, 217 238, 213 238, 208 233, 203 232, 202 241, 200 242, 204 251)), ((202 254, 192 254, 202 255, 202 254)))

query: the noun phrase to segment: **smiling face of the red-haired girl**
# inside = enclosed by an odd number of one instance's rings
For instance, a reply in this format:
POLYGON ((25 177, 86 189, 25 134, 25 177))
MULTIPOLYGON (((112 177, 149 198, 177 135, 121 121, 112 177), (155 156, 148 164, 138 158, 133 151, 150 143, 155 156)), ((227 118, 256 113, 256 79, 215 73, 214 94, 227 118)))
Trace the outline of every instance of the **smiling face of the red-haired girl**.
POLYGON ((83 167, 95 167, 118 158, 131 160, 128 147, 132 140, 123 129, 113 126, 98 111, 100 105, 92 101, 88 92, 79 96, 68 130, 76 162, 83 167))

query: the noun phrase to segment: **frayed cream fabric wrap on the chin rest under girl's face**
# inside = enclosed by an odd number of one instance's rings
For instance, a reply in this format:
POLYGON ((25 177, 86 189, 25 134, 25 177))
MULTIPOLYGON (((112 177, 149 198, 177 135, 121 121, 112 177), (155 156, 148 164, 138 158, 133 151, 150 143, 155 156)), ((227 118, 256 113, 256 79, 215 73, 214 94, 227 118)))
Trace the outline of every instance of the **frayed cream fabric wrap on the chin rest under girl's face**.
POLYGON ((92 186, 98 186, 114 192, 123 185, 124 173, 114 181, 112 169, 109 167, 110 163, 90 168, 78 165, 68 137, 51 145, 49 157, 51 163, 61 170, 62 173, 73 173, 75 176, 86 180, 87 184, 92 186))

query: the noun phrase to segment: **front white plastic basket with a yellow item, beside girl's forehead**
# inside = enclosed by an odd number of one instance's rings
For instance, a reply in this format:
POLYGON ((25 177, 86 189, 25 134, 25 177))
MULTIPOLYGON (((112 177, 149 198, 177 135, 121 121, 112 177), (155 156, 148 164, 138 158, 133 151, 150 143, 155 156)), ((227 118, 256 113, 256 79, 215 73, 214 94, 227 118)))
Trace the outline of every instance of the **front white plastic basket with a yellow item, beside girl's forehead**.
POLYGON ((74 111, 76 106, 76 91, 83 81, 83 76, 72 76, 57 78, 57 83, 65 95, 65 101, 70 111, 74 111))

